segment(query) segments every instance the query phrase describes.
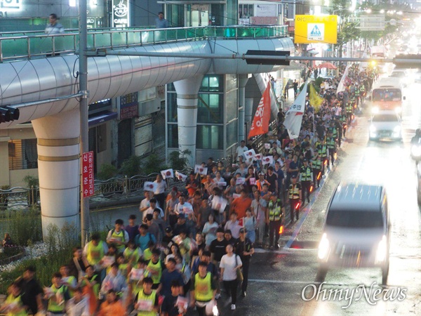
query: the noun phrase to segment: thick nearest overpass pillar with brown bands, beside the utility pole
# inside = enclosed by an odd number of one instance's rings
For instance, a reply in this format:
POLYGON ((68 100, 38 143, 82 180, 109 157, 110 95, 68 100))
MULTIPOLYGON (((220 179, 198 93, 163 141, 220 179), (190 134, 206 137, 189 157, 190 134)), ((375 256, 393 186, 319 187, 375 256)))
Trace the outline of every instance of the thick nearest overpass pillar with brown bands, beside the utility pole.
MULTIPOLYGON (((79 109, 32 121, 37 138, 43 235, 48 225, 77 228, 79 217, 79 109)), ((76 232, 79 230, 75 230, 76 232)))

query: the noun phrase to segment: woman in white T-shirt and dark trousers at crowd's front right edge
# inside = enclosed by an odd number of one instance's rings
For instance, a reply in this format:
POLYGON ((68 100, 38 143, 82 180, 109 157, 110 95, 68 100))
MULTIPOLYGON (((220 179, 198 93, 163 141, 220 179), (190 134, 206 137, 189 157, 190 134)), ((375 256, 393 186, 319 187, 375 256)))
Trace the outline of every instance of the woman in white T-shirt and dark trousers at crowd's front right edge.
POLYGON ((241 258, 234 254, 231 244, 225 249, 227 254, 222 256, 220 262, 220 279, 224 282, 225 291, 231 298, 231 310, 235 310, 236 289, 238 287, 237 269, 241 269, 241 258))

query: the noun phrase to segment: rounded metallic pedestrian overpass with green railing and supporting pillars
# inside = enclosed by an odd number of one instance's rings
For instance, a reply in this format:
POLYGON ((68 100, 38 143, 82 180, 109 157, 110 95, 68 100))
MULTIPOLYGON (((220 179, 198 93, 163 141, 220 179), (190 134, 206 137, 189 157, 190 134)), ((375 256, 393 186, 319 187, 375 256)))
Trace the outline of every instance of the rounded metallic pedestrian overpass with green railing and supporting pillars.
MULTIPOLYGON (((41 32, 0 34, 0 107, 20 110, 37 138, 44 232, 49 223, 76 224, 79 213, 79 34, 41 32)), ((168 57, 88 58, 88 103, 174 83, 180 150, 196 150, 197 101, 201 79, 213 74, 260 74, 281 66, 248 65, 241 59, 178 58, 171 53, 243 55, 248 50, 294 51, 286 26, 92 29, 88 50, 168 53, 168 57)), ((264 89, 265 84, 260 84, 264 89)), ((277 114, 276 103, 272 113, 277 114)))

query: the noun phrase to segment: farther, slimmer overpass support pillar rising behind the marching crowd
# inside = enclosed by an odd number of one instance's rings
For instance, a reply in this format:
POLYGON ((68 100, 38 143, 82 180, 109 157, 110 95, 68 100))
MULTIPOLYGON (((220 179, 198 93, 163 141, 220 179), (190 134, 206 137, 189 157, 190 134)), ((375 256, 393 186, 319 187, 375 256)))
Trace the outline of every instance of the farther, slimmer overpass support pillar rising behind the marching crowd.
POLYGON ((203 75, 175 81, 177 92, 178 148, 190 150, 189 166, 196 163, 197 98, 203 75))

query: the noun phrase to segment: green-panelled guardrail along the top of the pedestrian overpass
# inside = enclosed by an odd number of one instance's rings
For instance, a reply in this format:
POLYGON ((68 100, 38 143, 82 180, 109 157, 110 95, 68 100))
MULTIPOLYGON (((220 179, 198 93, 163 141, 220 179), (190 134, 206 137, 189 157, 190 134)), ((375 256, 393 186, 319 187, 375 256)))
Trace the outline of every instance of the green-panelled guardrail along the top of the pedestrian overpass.
MULTIPOLYGON (((227 26, 227 27, 173 27, 168 29, 92 29, 87 46, 93 48, 127 48, 146 44, 162 44, 201 39, 262 39, 287 36, 286 25, 227 26)), ((47 55, 76 53, 79 33, 24 34, 0 37, 0 62, 47 55)), ((20 33, 15 33, 20 34, 20 33)))

